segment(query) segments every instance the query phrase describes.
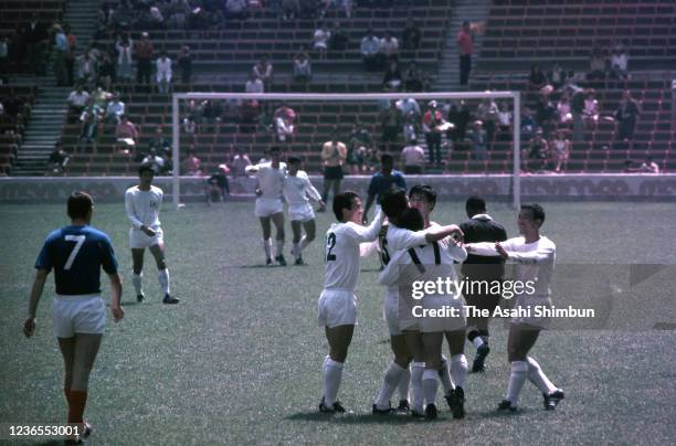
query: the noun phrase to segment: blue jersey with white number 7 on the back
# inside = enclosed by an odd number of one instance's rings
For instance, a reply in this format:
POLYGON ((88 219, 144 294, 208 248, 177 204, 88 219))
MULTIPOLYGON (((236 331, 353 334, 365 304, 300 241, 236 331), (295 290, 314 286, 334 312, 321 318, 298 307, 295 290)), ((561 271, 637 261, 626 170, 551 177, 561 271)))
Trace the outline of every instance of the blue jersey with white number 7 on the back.
POLYGON ((117 261, 108 236, 92 226, 65 226, 52 232, 35 261, 35 268, 50 272, 59 295, 101 293, 101 268, 117 273, 117 261))

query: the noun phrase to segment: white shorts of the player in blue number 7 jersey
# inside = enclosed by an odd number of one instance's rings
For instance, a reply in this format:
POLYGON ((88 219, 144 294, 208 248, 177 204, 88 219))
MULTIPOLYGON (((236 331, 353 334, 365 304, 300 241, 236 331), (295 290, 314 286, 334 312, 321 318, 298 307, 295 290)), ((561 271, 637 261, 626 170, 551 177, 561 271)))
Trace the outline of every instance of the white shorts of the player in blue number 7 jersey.
POLYGON ((52 322, 56 338, 72 338, 75 333, 103 334, 106 305, 98 295, 56 296, 52 302, 52 322))

